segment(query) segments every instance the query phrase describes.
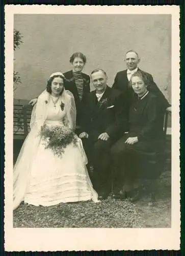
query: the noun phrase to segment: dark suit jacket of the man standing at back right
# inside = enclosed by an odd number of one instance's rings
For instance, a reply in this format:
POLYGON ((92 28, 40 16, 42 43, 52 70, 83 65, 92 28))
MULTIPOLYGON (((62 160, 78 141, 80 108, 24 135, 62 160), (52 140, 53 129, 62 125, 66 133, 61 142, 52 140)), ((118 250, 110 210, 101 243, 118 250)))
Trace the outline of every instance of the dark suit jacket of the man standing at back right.
MULTIPOLYGON (((161 102, 162 109, 165 111, 166 108, 170 106, 170 104, 168 103, 168 100, 165 98, 165 96, 160 91, 160 89, 157 87, 156 83, 153 81, 152 75, 145 71, 140 70, 139 68, 138 70, 143 72, 146 75, 148 80, 148 87, 147 87, 148 91, 157 96, 157 98, 161 102)), ((134 91, 129 86, 129 81, 127 78, 127 70, 120 71, 116 74, 113 88, 120 90, 123 93, 125 97, 125 101, 127 102, 127 111, 128 111, 134 91)))

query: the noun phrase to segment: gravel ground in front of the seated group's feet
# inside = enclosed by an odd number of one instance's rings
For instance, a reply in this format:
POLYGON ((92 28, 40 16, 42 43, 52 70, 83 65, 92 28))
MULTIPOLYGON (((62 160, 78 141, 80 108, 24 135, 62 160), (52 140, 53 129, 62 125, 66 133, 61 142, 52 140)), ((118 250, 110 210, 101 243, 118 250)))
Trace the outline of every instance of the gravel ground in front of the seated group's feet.
POLYGON ((143 196, 137 203, 115 200, 111 196, 99 203, 61 203, 33 206, 21 203, 14 211, 14 227, 171 227, 171 172, 158 180, 156 202, 143 196))

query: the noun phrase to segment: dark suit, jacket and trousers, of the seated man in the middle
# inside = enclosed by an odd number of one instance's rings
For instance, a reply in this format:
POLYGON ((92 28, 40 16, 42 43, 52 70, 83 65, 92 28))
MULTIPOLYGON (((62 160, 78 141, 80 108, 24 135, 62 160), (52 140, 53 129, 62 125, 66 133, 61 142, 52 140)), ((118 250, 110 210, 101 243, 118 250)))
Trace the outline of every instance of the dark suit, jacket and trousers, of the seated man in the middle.
POLYGON ((89 134, 83 143, 94 166, 94 186, 98 190, 108 183, 110 166, 110 148, 125 131, 126 116, 122 93, 107 87, 104 94, 97 100, 96 91, 87 97, 84 107, 83 131, 89 134), (107 141, 98 139, 101 133, 107 133, 107 141))

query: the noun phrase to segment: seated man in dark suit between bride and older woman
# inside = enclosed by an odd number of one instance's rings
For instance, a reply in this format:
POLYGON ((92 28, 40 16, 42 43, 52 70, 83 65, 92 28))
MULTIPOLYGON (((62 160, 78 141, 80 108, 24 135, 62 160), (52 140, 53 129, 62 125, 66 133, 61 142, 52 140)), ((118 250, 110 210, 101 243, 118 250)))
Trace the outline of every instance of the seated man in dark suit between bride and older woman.
POLYGON ((107 86, 107 74, 95 69, 91 80, 96 90, 86 100, 79 137, 92 159, 93 186, 99 199, 105 199, 110 192, 110 148, 123 135, 126 116, 122 93, 107 86))

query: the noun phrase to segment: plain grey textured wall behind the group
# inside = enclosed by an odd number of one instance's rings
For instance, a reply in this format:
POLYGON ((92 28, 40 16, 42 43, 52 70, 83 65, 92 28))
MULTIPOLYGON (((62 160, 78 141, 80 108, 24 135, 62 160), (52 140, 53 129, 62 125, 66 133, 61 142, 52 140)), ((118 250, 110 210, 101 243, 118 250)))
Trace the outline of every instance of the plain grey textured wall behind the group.
POLYGON ((51 73, 71 69, 69 57, 76 51, 87 57, 85 73, 102 68, 112 86, 116 73, 126 68, 125 52, 133 49, 141 57, 139 67, 153 75, 171 102, 171 15, 16 14, 14 28, 23 36, 14 53, 22 81, 14 98, 37 96, 51 73))

